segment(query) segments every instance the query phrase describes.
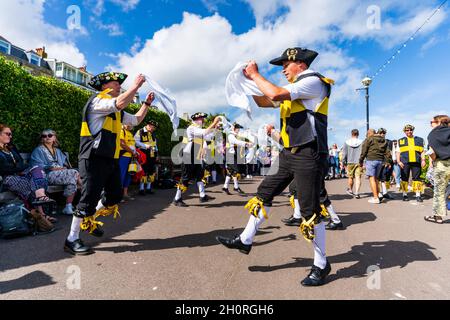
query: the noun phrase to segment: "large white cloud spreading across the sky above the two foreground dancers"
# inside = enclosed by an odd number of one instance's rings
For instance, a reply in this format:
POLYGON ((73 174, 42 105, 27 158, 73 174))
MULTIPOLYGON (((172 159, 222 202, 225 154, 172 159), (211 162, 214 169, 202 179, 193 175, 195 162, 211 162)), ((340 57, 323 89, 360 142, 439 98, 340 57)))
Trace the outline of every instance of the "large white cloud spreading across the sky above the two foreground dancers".
MULTIPOLYGON (((397 12, 407 13, 398 19, 386 19, 380 32, 372 32, 366 27, 366 9, 370 1, 362 4, 357 0, 247 2, 254 11, 257 24, 246 33, 234 34, 230 23, 217 13, 204 18, 184 13, 180 23, 157 31, 140 50, 121 53, 114 67, 130 74, 131 79, 138 73, 145 73, 170 88, 178 101, 180 114, 229 111, 233 109, 226 107, 224 82, 238 61, 255 59, 263 73, 281 84, 284 79, 279 74, 272 74, 277 69, 267 62, 287 47, 305 46, 320 52, 312 68, 336 80, 333 103, 356 102, 361 98, 355 89, 361 86, 363 67, 345 49, 330 43, 357 37, 393 44, 404 35, 409 36, 419 21, 430 13, 430 8, 416 0, 411 1, 414 6, 396 5, 397 12), (274 17, 274 12, 283 14, 274 17), (395 24, 394 21, 399 22, 395 24)), ((388 1, 380 3, 383 10, 394 8, 388 1)), ((442 16, 427 27, 428 31, 441 23, 442 16)), ((264 111, 255 113, 258 119, 265 115, 260 112, 264 111)), ((344 116, 337 111, 330 114, 336 121, 344 116)))

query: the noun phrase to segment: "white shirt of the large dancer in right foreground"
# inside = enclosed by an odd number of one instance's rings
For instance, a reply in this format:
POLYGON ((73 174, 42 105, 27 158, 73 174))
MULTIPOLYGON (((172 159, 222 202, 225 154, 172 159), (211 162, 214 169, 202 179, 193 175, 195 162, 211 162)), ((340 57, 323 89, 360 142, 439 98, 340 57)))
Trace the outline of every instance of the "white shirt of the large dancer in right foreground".
MULTIPOLYGON (((313 70, 305 70, 297 77, 314 73, 313 70)), ((328 94, 327 87, 318 77, 308 77, 295 83, 290 83, 284 88, 291 94, 291 101, 301 100, 306 109, 316 111, 317 106, 328 94)), ((317 136, 314 116, 308 113, 308 120, 312 125, 314 135, 317 136)))

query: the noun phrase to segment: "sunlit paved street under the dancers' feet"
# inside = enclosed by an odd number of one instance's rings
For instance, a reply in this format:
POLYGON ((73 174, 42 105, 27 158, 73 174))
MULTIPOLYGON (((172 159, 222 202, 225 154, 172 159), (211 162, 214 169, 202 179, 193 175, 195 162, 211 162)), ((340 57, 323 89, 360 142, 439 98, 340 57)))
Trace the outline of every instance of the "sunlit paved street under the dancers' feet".
POLYGON ((70 217, 60 217, 53 234, 0 241, 0 300, 450 299, 450 224, 424 222, 428 198, 371 205, 368 195, 346 195, 345 180, 328 182, 346 230, 327 233, 332 272, 320 288, 299 285, 313 249, 297 228, 281 223, 291 214, 286 195, 276 198, 250 255, 227 250, 215 237, 242 231, 248 219, 243 206, 259 181, 242 182, 248 197, 209 187, 216 199, 206 205, 188 194, 189 208, 170 204, 174 190, 137 198, 121 206, 120 220, 106 219, 102 241, 83 235, 95 246, 90 256, 63 252, 70 217), (374 266, 379 273, 368 274, 374 266), (77 270, 81 288, 69 289, 77 270))

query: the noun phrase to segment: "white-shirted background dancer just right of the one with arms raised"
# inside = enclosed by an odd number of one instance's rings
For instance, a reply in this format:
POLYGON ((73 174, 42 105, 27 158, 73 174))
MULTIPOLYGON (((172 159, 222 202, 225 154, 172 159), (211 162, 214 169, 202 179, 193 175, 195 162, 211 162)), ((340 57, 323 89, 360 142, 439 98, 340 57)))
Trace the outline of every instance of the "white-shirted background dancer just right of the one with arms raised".
POLYGON ((227 148, 226 148, 226 170, 227 176, 225 177, 225 184, 222 190, 231 195, 228 190, 230 181, 233 179, 234 191, 239 194, 245 194, 244 191, 239 187, 240 178, 240 166, 245 164, 245 148, 249 147, 251 144, 238 139, 238 134, 241 129, 243 129, 240 124, 234 123, 233 130, 227 136, 227 148))

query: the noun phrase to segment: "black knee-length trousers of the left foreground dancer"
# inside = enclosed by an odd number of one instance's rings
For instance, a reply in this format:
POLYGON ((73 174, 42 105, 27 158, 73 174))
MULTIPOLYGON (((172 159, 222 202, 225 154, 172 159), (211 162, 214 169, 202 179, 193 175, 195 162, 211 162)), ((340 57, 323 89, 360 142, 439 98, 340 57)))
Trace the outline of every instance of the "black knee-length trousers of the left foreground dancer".
POLYGON ((104 206, 109 207, 120 203, 122 183, 119 160, 93 155, 89 159, 81 159, 78 166, 82 182, 78 210, 86 212, 87 217, 93 216, 103 190, 105 191, 102 198, 104 206))

